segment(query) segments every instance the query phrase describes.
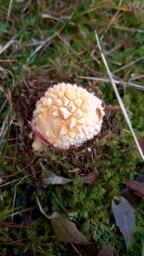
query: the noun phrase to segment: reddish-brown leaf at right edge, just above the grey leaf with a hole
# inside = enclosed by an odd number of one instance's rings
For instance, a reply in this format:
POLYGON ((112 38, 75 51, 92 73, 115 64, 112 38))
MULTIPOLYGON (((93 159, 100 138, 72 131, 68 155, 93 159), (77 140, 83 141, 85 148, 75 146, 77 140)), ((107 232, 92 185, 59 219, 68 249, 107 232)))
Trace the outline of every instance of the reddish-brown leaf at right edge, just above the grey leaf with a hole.
POLYGON ((124 180, 123 183, 135 192, 144 195, 144 182, 137 180, 124 180))

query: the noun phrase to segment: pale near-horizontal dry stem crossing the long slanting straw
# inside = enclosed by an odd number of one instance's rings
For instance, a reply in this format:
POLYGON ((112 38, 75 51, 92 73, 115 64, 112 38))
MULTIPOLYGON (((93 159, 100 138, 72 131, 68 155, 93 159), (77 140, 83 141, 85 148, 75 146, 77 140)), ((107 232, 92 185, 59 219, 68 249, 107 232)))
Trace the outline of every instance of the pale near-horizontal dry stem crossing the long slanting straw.
MULTIPOLYGON (((78 78, 81 79, 89 79, 89 80, 94 80, 94 81, 101 81, 101 82, 110 82, 109 78, 101 78, 101 77, 92 77, 92 76, 78 76, 78 78)), ((144 87, 142 85, 138 85, 138 84, 133 84, 133 83, 129 83, 129 82, 122 82, 122 81, 118 81, 114 79, 115 84, 121 84, 123 86, 126 87, 132 87, 141 91, 144 91, 144 87)))

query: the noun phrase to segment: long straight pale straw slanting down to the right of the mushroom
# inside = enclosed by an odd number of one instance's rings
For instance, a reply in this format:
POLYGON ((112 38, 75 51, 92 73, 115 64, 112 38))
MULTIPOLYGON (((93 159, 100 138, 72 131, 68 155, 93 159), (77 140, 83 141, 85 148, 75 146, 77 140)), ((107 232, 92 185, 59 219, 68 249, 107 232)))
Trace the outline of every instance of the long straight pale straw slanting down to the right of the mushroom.
POLYGON ((119 102, 119 105, 120 105, 120 107, 121 107, 121 109, 122 109, 124 118, 125 118, 127 124, 129 125, 129 128, 130 128, 130 131, 131 131, 131 133, 132 133, 132 135, 133 135, 133 139, 134 139, 134 141, 135 141, 135 144, 137 145, 137 148, 138 148, 138 150, 139 150, 139 153, 140 153, 140 155, 141 155, 141 157, 142 157, 142 159, 143 159, 143 161, 144 161, 144 156, 143 156, 142 150, 141 150, 141 148, 140 148, 139 142, 138 142, 137 138, 135 137, 135 134, 134 134, 134 131, 133 131, 133 128, 132 128, 130 119, 129 119, 129 117, 127 116, 127 113, 126 113, 126 111, 125 111, 123 102, 122 102, 122 100, 121 100, 121 97, 119 96, 117 87, 116 87, 115 82, 114 82, 114 79, 113 79, 113 77, 112 77, 112 75, 111 75, 111 73, 110 73, 110 70, 109 70, 109 67, 108 67, 108 65, 107 65, 107 61, 106 61, 106 59, 105 59, 105 56, 103 55, 103 53, 102 53, 102 51, 101 51, 101 46, 100 46, 99 38, 98 38, 98 35, 97 35, 97 32, 96 32, 96 31, 95 31, 95 38, 96 38, 96 40, 97 40, 97 44, 98 44, 98 47, 99 47, 99 50, 100 50, 100 54, 101 54, 102 61, 103 61, 104 65, 105 65, 105 68, 106 68, 107 73, 108 73, 108 75, 109 75, 110 82, 111 82, 111 84, 113 85, 113 89, 114 89, 114 92, 115 92, 115 94, 116 94, 116 97, 117 97, 117 100, 118 100, 118 102, 119 102))

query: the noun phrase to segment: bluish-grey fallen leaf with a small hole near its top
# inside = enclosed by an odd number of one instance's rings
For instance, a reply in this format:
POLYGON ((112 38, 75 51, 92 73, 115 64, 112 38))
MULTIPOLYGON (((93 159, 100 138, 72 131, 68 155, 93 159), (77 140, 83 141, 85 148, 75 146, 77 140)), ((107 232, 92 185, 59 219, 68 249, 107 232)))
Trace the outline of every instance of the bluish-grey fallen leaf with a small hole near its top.
POLYGON ((123 234, 126 249, 129 251, 133 243, 134 234, 137 232, 135 210, 124 197, 115 196, 111 201, 111 212, 114 214, 116 225, 123 234), (116 204, 116 201, 119 204, 116 204))

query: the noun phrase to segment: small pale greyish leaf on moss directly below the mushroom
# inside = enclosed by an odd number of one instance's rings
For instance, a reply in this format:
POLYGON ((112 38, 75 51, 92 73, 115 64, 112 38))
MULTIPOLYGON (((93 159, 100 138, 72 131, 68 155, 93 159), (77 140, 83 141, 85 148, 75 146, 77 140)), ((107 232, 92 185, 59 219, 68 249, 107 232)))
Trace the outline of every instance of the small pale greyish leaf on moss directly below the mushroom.
POLYGON ((68 182, 74 181, 74 180, 70 180, 61 176, 57 176, 52 172, 49 172, 47 174, 44 175, 44 183, 46 185, 62 185, 62 184, 66 184, 68 182))

